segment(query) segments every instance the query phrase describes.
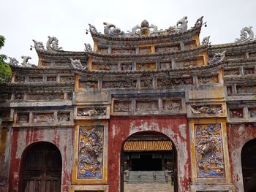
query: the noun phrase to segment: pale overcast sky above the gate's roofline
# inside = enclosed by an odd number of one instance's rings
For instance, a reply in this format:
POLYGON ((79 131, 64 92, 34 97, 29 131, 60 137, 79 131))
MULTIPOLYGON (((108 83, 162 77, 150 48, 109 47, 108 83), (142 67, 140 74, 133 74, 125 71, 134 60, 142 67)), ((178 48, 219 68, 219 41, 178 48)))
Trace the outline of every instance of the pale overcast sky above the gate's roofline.
POLYGON ((64 50, 83 51, 84 43, 91 43, 86 35, 88 23, 103 33, 103 22, 114 23, 121 31, 131 30, 142 20, 158 28, 175 26, 176 21, 188 17, 189 28, 200 16, 207 22, 200 40, 211 36, 211 44, 234 42, 244 26, 252 26, 256 34, 255 0, 1 0, 0 34, 6 38, 1 54, 22 61, 21 55, 30 55, 37 64, 37 53, 29 50, 32 39, 42 41, 57 37, 64 50))

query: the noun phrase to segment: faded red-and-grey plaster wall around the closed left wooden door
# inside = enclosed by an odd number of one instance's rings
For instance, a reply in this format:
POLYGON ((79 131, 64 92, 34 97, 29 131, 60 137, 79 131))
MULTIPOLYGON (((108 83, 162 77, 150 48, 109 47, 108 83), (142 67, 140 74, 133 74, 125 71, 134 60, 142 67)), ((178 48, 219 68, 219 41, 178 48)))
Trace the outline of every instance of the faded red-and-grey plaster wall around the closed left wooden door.
POLYGON ((20 182, 20 160, 23 151, 34 142, 51 142, 56 145, 62 158, 61 190, 69 191, 72 171, 73 129, 72 128, 14 128, 10 161, 10 192, 18 189, 20 182))

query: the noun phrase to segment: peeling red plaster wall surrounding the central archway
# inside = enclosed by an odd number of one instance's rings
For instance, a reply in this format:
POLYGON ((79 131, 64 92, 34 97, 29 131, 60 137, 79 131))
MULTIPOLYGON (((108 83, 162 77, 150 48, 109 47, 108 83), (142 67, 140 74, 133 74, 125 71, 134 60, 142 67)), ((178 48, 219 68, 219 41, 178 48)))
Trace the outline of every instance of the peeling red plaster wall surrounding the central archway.
POLYGON ((120 191, 120 155, 124 141, 140 131, 158 131, 176 145, 178 161, 178 191, 189 191, 191 166, 189 128, 185 116, 113 117, 108 138, 108 183, 110 192, 120 191))

